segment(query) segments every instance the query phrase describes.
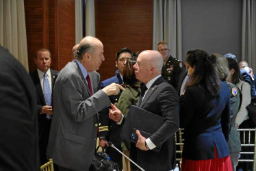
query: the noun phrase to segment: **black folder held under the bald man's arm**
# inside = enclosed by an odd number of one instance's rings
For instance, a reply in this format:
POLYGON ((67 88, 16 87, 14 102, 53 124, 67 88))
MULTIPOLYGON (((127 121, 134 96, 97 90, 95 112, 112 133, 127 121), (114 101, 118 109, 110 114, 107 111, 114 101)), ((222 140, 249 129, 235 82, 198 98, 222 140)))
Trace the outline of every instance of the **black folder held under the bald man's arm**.
MULTIPOLYGON (((139 130, 143 137, 148 138, 155 133, 162 124, 164 124, 162 116, 131 105, 129 113, 125 118, 120 137, 125 141, 137 143, 138 136, 136 130, 139 130)), ((159 152, 160 148, 161 146, 158 146, 153 148, 153 150, 159 152)))

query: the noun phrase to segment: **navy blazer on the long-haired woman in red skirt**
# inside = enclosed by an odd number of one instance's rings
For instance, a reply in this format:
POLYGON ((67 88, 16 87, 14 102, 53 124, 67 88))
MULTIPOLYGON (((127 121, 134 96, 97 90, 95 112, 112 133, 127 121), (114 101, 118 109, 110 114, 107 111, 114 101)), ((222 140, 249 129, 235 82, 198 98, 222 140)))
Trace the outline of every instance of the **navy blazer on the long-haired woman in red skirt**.
POLYGON ((185 128, 183 158, 214 159, 214 144, 219 158, 229 155, 229 88, 224 82, 221 86, 217 98, 211 98, 198 84, 180 96, 180 127, 185 128))

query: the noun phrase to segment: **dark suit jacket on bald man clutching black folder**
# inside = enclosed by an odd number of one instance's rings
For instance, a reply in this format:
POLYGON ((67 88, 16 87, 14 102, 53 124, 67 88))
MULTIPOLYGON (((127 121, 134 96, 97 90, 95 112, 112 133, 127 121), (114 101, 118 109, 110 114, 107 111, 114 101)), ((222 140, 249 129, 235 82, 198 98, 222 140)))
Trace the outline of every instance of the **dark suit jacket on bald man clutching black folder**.
POLYGON ((176 163, 175 133, 179 129, 177 92, 163 77, 159 77, 145 94, 139 107, 162 116, 164 124, 149 137, 155 146, 162 144, 161 150, 157 153, 138 149, 138 165, 144 170, 172 170, 176 163))

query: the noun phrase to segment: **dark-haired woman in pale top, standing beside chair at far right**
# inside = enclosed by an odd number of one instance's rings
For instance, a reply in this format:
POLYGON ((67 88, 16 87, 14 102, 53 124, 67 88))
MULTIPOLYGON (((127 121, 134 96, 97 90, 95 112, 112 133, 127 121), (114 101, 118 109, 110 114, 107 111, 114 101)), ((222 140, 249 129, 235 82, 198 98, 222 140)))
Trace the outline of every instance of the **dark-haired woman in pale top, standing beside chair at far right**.
MULTIPOLYGON (((248 111, 246 106, 251 103, 251 86, 249 83, 242 81, 242 76, 240 74, 240 68, 238 66, 238 62, 233 58, 227 57, 227 61, 229 62, 229 73, 230 75, 227 77, 227 81, 238 86, 240 91, 242 92, 242 103, 241 107, 238 111, 238 116, 235 118, 235 126, 240 129, 250 129, 251 123, 248 120, 248 111)), ((254 141, 254 133, 251 133, 251 143, 254 141)), ((240 140, 241 142, 245 142, 242 144, 248 144, 248 132, 243 133, 240 132, 240 140)), ((242 151, 253 151, 252 147, 244 147, 242 146, 242 151)), ((240 159, 253 159, 253 155, 244 155, 241 154, 240 159)), ((242 162, 238 163, 237 170, 253 170, 253 162, 242 162)))

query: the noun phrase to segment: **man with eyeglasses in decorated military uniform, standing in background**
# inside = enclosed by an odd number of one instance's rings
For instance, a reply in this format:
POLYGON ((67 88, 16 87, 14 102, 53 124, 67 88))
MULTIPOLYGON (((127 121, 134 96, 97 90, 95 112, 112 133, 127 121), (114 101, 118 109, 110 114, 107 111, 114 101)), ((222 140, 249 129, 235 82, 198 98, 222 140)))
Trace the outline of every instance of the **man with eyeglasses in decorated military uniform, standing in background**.
POLYGON ((170 49, 168 48, 168 45, 168 42, 164 41, 157 43, 157 50, 159 53, 161 53, 164 60, 162 77, 164 77, 164 79, 168 81, 168 83, 170 83, 176 91, 178 91, 179 77, 186 71, 185 64, 170 55, 170 49))

